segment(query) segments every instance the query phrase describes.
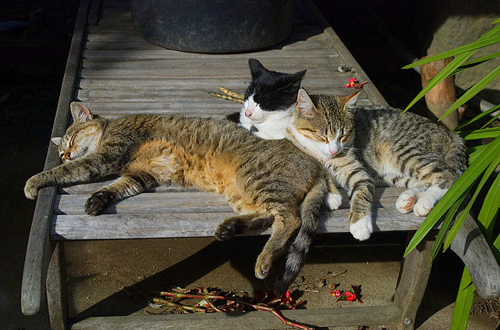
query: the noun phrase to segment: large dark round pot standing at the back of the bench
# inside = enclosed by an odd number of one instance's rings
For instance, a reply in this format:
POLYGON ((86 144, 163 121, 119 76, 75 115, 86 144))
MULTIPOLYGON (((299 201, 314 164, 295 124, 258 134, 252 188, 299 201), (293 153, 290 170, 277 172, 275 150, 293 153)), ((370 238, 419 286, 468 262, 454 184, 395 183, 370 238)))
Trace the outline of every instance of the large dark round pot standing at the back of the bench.
POLYGON ((262 48, 291 29, 291 0, 130 0, 130 9, 145 40, 191 52, 262 48))

